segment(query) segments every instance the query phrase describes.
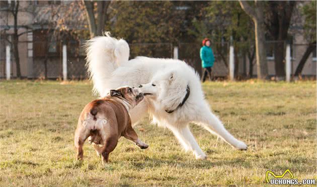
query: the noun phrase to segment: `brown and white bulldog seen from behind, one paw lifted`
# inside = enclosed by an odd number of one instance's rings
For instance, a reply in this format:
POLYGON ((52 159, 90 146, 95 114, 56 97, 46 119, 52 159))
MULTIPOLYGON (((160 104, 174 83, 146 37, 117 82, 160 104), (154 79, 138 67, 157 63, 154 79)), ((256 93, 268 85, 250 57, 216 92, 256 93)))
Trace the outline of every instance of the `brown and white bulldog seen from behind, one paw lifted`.
POLYGON ((146 149, 148 145, 138 138, 128 114, 142 99, 143 93, 137 88, 126 86, 110 90, 106 97, 88 103, 78 119, 75 132, 77 159, 83 159, 83 145, 89 136, 97 153, 101 154, 103 163, 108 162, 109 154, 121 136, 146 149))

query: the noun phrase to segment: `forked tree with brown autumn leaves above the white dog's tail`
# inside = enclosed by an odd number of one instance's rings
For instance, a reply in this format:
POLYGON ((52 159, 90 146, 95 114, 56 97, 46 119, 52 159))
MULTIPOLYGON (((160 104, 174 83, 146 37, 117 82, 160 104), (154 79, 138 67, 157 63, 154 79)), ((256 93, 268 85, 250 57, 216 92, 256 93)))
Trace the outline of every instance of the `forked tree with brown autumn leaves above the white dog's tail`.
POLYGON ((101 36, 109 19, 107 11, 111 1, 63 2, 53 8, 40 8, 39 19, 49 21, 55 31, 70 34, 89 28, 90 37, 101 36))

